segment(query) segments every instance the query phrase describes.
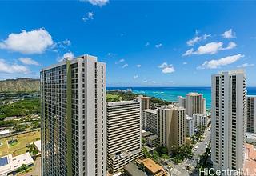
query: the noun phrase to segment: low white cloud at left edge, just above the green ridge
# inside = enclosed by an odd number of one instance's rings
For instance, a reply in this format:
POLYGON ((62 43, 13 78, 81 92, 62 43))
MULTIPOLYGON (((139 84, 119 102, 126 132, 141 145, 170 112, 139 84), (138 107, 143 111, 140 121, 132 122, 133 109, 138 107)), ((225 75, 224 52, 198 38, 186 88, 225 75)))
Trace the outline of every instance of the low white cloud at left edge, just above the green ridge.
POLYGON ((26 66, 7 63, 4 59, 0 58, 0 72, 7 74, 21 73, 29 74, 30 70, 26 66))

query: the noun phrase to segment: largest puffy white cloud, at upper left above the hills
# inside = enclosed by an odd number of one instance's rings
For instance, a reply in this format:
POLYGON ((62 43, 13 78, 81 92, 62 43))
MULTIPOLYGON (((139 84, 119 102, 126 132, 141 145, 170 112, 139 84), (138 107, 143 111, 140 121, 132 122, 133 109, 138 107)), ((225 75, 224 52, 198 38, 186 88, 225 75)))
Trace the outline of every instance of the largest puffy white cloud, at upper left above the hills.
POLYGON ((22 54, 42 54, 47 47, 54 43, 50 34, 42 28, 29 32, 21 31, 18 34, 9 34, 6 40, 0 42, 0 48, 22 54))

